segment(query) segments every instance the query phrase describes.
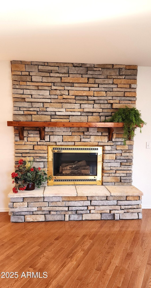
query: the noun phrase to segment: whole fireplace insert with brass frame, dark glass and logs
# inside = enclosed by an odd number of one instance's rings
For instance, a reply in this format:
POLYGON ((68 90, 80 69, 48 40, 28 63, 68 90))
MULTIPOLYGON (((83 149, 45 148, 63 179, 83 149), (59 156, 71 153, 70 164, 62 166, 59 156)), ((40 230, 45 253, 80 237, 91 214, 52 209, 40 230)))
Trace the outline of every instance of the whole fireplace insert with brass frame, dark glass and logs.
POLYGON ((48 185, 102 185, 102 146, 48 146, 48 185))

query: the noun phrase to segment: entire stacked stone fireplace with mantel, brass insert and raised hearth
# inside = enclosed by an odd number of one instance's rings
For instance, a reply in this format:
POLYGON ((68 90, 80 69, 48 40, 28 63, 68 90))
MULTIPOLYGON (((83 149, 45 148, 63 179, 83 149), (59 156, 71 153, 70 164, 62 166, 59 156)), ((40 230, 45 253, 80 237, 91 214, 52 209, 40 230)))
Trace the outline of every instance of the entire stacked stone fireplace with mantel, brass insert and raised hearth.
POLYGON ((123 145, 122 123, 103 125, 118 108, 136 107, 137 66, 11 66, 15 165, 32 156, 53 176, 46 187, 9 193, 11 221, 141 219, 133 139, 123 145))

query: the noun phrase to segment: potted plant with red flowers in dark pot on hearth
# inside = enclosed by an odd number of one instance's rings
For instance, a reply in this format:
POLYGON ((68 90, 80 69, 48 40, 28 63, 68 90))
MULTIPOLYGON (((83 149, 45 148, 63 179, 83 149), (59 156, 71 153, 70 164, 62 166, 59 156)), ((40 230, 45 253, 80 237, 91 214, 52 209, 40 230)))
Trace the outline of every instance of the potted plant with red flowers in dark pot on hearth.
POLYGON ((26 161, 20 159, 18 164, 15 172, 12 173, 12 179, 14 179, 12 183, 15 183, 14 193, 18 190, 34 190, 35 185, 40 188, 43 182, 52 179, 52 176, 47 177, 47 173, 40 167, 33 166, 33 157, 27 158, 26 161))

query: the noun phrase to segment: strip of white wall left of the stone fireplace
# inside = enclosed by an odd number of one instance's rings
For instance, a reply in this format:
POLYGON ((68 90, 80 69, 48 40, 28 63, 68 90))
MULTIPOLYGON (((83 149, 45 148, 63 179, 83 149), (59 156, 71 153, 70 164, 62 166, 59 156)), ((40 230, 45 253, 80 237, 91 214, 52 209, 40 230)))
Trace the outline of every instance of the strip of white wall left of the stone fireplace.
POLYGON ((14 129, 12 121, 12 79, 10 61, 0 61, 0 211, 8 211, 7 194, 12 190, 14 172, 14 129))

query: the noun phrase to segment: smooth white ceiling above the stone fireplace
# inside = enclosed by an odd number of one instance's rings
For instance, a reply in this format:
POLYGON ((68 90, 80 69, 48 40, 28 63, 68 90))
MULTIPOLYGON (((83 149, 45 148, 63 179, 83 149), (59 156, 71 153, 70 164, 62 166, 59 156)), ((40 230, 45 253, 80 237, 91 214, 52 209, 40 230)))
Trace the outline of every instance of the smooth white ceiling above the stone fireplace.
POLYGON ((9 0, 0 60, 151 66, 151 0, 9 0))

